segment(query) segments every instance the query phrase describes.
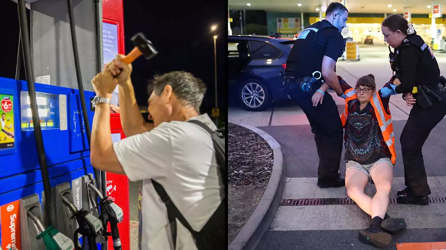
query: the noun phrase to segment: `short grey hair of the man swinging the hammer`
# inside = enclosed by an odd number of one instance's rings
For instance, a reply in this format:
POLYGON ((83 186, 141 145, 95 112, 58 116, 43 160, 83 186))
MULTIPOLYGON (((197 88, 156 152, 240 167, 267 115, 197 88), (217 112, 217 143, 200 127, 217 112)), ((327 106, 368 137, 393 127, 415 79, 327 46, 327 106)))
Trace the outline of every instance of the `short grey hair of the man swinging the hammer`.
POLYGON ((206 93, 206 85, 199 78, 184 71, 172 71, 161 76, 153 77, 149 82, 149 95, 152 91, 160 96, 166 85, 172 87, 175 96, 183 101, 184 105, 192 106, 199 113, 200 106, 206 93))

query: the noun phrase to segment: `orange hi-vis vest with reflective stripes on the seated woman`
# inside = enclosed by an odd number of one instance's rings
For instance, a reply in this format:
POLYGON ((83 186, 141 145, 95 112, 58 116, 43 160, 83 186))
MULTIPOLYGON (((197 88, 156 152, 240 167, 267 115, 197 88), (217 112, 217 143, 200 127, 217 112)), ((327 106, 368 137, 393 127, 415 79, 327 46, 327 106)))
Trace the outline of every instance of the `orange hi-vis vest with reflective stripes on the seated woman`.
MULTIPOLYGON (((348 115, 348 102, 356 99, 355 89, 347 89, 344 94, 347 96, 345 99, 345 110, 341 115, 342 125, 344 126, 347 122, 348 115)), ((392 154, 392 164, 395 165, 396 160, 396 150, 395 150, 395 136, 393 134, 392 116, 387 114, 384 109, 384 105, 381 101, 381 97, 378 92, 375 92, 370 99, 370 103, 375 110, 376 119, 380 125, 381 133, 383 134, 384 141, 392 154)))

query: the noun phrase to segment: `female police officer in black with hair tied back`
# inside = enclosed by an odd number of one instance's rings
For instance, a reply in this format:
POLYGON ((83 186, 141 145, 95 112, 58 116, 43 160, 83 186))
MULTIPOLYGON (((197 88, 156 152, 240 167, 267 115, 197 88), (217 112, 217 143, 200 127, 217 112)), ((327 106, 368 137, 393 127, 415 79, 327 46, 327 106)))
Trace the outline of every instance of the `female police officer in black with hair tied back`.
POLYGON ((446 115, 445 81, 429 46, 403 16, 388 16, 381 31, 384 41, 394 48, 390 53, 392 71, 401 81, 395 91, 405 94, 407 105, 413 104, 400 138, 406 188, 397 192, 397 202, 427 205, 431 192, 421 148, 430 131, 446 115))

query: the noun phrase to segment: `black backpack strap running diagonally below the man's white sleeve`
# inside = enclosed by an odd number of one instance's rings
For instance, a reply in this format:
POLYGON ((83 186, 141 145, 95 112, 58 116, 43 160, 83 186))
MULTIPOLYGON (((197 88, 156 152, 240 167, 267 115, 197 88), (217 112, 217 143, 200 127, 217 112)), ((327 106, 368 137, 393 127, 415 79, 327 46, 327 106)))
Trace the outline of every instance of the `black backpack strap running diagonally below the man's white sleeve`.
POLYGON ((157 181, 152 179, 153 187, 155 188, 155 191, 157 191, 157 194, 160 196, 161 200, 164 202, 166 209, 167 209, 167 218, 169 219, 170 224, 170 233, 172 234, 172 241, 173 241, 173 249, 176 249, 177 245, 177 221, 175 218, 178 218, 178 220, 187 228, 187 230, 190 231, 190 233, 194 236, 196 235, 195 230, 192 229, 189 222, 186 221, 186 218, 181 214, 181 212, 178 210, 178 208, 173 204, 172 200, 170 200, 169 195, 166 193, 166 190, 163 188, 161 184, 159 184, 157 181))

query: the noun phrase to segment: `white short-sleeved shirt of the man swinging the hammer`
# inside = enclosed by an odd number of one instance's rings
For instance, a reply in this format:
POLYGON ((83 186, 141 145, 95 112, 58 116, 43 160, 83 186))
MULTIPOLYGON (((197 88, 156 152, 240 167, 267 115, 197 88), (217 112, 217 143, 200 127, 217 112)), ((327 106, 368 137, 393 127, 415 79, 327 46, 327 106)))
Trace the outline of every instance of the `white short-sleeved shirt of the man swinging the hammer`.
MULTIPOLYGON (((191 118, 216 127, 207 114, 191 118)), ((129 180, 142 180, 140 195, 141 250, 173 249, 164 203, 150 179, 160 183, 173 204, 199 231, 221 202, 218 169, 211 135, 190 122, 164 122, 150 132, 113 145, 129 180)), ((197 249, 192 235, 177 219, 177 250, 197 249)))

